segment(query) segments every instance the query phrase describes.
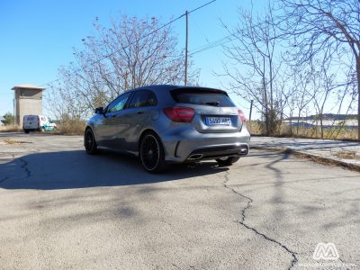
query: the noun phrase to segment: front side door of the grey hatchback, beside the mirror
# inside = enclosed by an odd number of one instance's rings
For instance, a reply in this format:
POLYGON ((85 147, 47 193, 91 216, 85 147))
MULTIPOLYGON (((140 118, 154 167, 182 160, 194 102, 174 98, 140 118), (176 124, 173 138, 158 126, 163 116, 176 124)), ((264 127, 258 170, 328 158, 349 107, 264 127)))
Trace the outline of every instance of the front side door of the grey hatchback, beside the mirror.
POLYGON ((126 108, 132 93, 121 94, 104 110, 101 121, 97 125, 96 135, 98 145, 105 148, 117 148, 119 144, 119 124, 121 124, 122 110, 126 108))

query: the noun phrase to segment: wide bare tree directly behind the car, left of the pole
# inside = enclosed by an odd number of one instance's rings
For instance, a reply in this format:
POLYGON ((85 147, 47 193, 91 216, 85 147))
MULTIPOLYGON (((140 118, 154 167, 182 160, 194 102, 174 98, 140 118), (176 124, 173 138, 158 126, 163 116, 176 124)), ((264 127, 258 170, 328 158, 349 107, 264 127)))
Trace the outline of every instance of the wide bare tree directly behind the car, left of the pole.
MULTIPOLYGON (((94 29, 94 36, 83 39, 84 49, 74 50, 74 62, 59 68, 61 80, 51 85, 49 104, 57 116, 85 118, 131 88, 184 80, 184 53, 175 49, 171 25, 123 15, 110 28, 96 20, 94 29)), ((196 76, 191 74, 190 82, 196 76)))

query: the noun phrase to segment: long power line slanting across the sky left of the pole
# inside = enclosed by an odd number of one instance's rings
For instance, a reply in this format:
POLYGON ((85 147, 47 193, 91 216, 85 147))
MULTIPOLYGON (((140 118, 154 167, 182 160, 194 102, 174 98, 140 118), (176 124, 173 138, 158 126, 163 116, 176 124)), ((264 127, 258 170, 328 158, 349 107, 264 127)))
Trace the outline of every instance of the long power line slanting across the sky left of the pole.
MULTIPOLYGON (((216 0, 211 0, 210 2, 208 2, 208 3, 206 3, 206 4, 202 4, 202 5, 194 8, 193 10, 191 10, 191 11, 189 11, 189 12, 186 12, 186 13, 187 13, 187 14, 192 14, 192 13, 198 11, 199 9, 202 9, 203 7, 205 7, 205 6, 209 5, 209 4, 212 4, 212 3, 214 3, 214 2, 216 2, 216 0)), ((181 14, 181 15, 179 15, 178 17, 176 17, 175 19, 171 20, 170 22, 163 24, 162 26, 160 26, 160 27, 157 28, 156 30, 150 31, 147 35, 141 37, 139 40, 146 39, 146 38, 148 38, 148 36, 154 34, 155 32, 166 28, 167 26, 169 26, 169 25, 172 24, 172 23, 175 23, 176 21, 178 21, 178 20, 180 20, 181 18, 183 18, 183 17, 186 15, 186 13, 181 14)), ((136 41, 139 41, 139 40, 136 40, 136 41)), ((99 58, 99 59, 97 59, 97 60, 94 60, 92 63, 90 63, 90 64, 88 64, 88 65, 85 65, 85 66, 83 66, 83 67, 77 68, 75 71, 71 72, 69 75, 70 75, 70 76, 71 76, 71 75, 74 75, 74 74, 76 74, 77 72, 79 72, 79 71, 81 71, 81 70, 84 70, 85 67, 91 67, 91 66, 94 66, 94 65, 97 64, 97 63, 100 63, 101 61, 103 61, 103 59, 111 57, 112 55, 114 55, 115 53, 121 51, 122 49, 127 49, 127 48, 129 48, 129 47, 130 47, 131 45, 133 45, 136 41, 131 42, 130 44, 128 44, 128 45, 125 46, 125 47, 122 47, 121 49, 116 49, 116 50, 112 51, 111 53, 109 53, 109 54, 107 54, 107 55, 104 55, 102 58, 99 58)), ((67 76, 69 76, 69 75, 67 75, 67 76)), ((54 80, 52 80, 52 81, 49 81, 48 83, 42 84, 42 86, 55 83, 55 82, 63 79, 64 77, 66 77, 66 76, 60 76, 60 77, 58 77, 57 79, 54 79, 54 80)))

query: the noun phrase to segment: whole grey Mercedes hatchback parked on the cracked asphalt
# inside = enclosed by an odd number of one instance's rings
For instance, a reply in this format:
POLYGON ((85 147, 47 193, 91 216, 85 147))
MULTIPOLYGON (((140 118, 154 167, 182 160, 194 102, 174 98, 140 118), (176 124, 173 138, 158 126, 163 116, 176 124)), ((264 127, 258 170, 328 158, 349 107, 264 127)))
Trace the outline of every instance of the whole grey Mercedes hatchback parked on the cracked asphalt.
POLYGON ((222 90, 143 86, 95 113, 86 123, 86 152, 107 148, 133 154, 149 173, 204 159, 230 166, 248 153, 245 116, 222 90))

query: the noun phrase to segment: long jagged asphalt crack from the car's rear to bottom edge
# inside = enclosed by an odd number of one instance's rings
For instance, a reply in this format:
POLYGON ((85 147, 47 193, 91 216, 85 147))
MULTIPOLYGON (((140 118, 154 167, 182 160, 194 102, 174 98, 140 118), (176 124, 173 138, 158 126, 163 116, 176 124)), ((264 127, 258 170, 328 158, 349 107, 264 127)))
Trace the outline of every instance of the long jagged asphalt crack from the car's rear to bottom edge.
POLYGON ((288 270, 292 269, 293 266, 295 266, 298 262, 298 258, 296 257, 297 253, 294 252, 293 250, 291 250, 289 247, 286 247, 284 244, 280 243, 279 241, 275 240, 275 238, 270 238, 268 236, 266 236, 266 234, 258 231, 256 228, 253 228, 253 227, 250 227, 249 225, 247 225, 245 223, 245 218, 246 218, 246 215, 245 215, 245 212, 251 207, 251 203, 254 202, 253 199, 251 199, 250 197, 247 197, 246 195, 242 194, 242 193, 238 193, 235 189, 233 189, 232 187, 230 187, 227 183, 229 181, 229 171, 226 172, 226 175, 225 175, 225 178, 226 180, 222 183, 224 185, 225 188, 231 190, 233 193, 236 193, 238 194, 239 196, 247 199, 247 205, 246 207, 244 207, 242 210, 241 210, 241 220, 238 221, 238 223, 240 223, 242 226, 244 226, 246 229, 251 229, 252 231, 254 231, 257 235, 265 238, 266 240, 270 241, 270 242, 273 242, 275 243, 276 245, 284 248, 284 250, 286 250, 286 252, 288 252, 292 257, 293 257, 293 260, 292 260, 292 263, 291 263, 291 266, 289 266, 288 270))

